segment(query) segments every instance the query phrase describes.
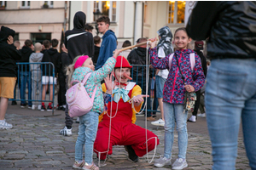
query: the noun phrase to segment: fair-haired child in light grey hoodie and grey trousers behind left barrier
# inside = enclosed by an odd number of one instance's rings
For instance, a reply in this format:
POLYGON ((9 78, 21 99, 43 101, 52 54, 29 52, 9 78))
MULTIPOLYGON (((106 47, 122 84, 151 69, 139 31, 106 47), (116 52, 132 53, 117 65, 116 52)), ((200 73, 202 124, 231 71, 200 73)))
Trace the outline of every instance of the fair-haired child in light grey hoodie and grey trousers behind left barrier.
MULTIPOLYGON (((32 53, 29 57, 29 62, 30 63, 40 63, 43 59, 42 53, 40 53, 42 49, 42 45, 40 42, 35 43, 35 51, 36 53, 32 53)), ((40 100, 41 97, 41 65, 40 64, 31 64, 30 65, 30 70, 32 72, 32 100, 40 100), (39 90, 39 98, 36 97, 37 95, 37 90, 39 90)), ((38 102, 35 104, 38 105, 38 102)), ((32 110, 36 109, 36 105, 32 105, 32 110)), ((38 105, 38 110, 41 110, 41 105, 38 105)))

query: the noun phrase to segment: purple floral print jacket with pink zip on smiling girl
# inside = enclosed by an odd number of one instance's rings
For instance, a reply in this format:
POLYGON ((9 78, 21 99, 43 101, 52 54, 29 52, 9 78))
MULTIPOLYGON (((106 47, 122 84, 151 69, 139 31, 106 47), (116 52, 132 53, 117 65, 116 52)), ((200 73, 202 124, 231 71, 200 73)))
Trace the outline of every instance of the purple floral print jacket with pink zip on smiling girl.
POLYGON ((195 91, 198 91, 203 87, 205 83, 205 76, 201 68, 201 59, 197 54, 195 54, 194 71, 192 71, 190 66, 189 54, 195 53, 193 50, 176 50, 172 58, 171 69, 169 68, 169 57, 171 54, 168 54, 163 59, 159 59, 156 48, 150 48, 148 51, 150 54, 151 65, 153 65, 155 69, 170 70, 163 90, 164 102, 168 102, 170 104, 183 104, 184 94, 186 91, 184 88, 184 82, 185 84, 192 85, 195 88, 195 91), (184 82, 181 73, 178 70, 179 68, 183 74, 184 82))

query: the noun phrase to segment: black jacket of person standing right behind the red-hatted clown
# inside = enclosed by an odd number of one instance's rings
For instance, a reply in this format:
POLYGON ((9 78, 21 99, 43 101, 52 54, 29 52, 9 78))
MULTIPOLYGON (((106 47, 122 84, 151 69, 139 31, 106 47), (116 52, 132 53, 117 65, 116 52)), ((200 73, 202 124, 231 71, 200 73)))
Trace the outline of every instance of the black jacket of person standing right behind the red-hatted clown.
MULTIPOLYGON (((135 48, 131 50, 131 53, 128 55, 127 59, 129 63, 133 66, 133 74, 131 75, 133 80, 137 80, 136 77, 139 77, 139 79, 142 79, 143 81, 146 81, 146 67, 143 65, 146 65, 146 54, 147 54, 147 48, 135 48), (138 65, 138 66, 136 66, 138 65)), ((148 63, 149 63, 150 56, 148 54, 148 63)), ((152 77, 152 71, 150 69, 149 76, 152 77)))

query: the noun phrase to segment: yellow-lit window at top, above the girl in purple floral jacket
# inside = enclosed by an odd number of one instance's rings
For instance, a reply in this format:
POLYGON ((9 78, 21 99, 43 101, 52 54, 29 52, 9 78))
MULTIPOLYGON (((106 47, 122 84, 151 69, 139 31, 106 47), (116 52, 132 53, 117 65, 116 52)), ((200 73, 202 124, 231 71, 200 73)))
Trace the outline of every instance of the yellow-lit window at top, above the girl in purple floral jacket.
POLYGON ((185 1, 169 1, 168 23, 183 24, 185 20, 185 1))

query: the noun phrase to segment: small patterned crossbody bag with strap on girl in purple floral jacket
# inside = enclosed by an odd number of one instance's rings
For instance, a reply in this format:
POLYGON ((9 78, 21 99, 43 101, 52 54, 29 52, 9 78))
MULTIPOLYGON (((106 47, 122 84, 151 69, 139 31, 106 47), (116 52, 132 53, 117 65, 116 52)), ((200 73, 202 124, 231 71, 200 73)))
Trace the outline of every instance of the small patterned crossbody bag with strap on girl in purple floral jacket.
MULTIPOLYGON (((176 56, 176 59, 177 59, 177 56, 176 56)), ((182 76, 183 83, 184 83, 184 85, 186 85, 185 78, 183 77, 183 74, 182 74, 182 72, 180 70, 180 67, 179 67, 178 59, 177 59, 177 65, 178 65, 178 71, 180 72, 180 74, 182 76)), ((192 71, 193 71, 193 69, 194 68, 192 67, 192 71)), ((186 91, 185 92, 185 96, 184 96, 184 107, 183 107, 184 111, 191 111, 191 112, 193 112, 194 109, 195 109, 195 100, 196 100, 195 92, 190 92, 189 93, 188 91, 186 91)))

